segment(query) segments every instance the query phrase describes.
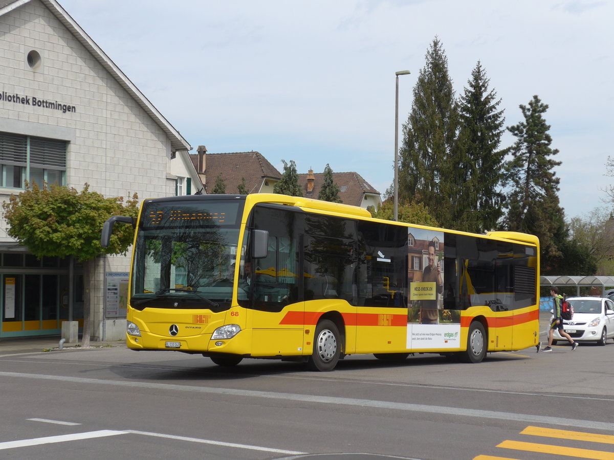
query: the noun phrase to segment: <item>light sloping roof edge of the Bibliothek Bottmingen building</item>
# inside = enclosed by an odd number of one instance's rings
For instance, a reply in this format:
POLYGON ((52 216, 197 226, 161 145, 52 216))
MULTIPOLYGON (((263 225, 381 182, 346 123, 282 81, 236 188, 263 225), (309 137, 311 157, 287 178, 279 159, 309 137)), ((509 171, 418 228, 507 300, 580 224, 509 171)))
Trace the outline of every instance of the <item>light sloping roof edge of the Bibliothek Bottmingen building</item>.
MULTIPOLYGON (((25 5, 32 0, 0 0, 0 16, 11 12, 12 10, 25 5)), ((115 80, 123 87, 124 90, 136 101, 145 112, 152 118, 155 123, 165 132, 171 142, 173 150, 191 150, 190 144, 185 140, 179 131, 173 128, 173 125, 162 116, 158 109, 153 107, 153 104, 144 96, 141 91, 134 85, 133 82, 115 65, 103 50, 96 45, 96 42, 85 33, 74 19, 64 10, 55 0, 40 0, 50 12, 76 37, 79 42, 91 53, 92 56, 111 74, 115 80)))

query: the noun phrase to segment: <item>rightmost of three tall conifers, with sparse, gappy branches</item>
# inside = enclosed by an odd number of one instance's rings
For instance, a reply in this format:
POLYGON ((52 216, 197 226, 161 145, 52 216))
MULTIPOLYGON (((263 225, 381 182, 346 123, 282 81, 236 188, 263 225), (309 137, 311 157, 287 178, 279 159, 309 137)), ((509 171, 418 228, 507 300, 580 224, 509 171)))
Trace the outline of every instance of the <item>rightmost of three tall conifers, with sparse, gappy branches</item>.
POLYGON ((519 107, 524 121, 508 127, 516 142, 505 172, 510 185, 505 223, 511 231, 539 237, 542 272, 546 274, 561 256, 559 247, 569 233, 559 206, 559 178, 554 172, 561 162, 551 158, 559 151, 550 147, 550 125, 543 118, 548 105, 533 96, 528 107, 522 104, 519 107))

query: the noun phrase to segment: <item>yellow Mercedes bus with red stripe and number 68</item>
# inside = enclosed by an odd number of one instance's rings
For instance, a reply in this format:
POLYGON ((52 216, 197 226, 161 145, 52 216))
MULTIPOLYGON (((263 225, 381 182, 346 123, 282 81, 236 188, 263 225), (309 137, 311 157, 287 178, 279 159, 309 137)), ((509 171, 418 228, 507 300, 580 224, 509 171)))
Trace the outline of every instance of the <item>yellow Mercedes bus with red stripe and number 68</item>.
POLYGON ((438 353, 480 362, 538 346, 539 242, 371 218, 281 194, 147 199, 136 226, 133 350, 305 361, 438 353))

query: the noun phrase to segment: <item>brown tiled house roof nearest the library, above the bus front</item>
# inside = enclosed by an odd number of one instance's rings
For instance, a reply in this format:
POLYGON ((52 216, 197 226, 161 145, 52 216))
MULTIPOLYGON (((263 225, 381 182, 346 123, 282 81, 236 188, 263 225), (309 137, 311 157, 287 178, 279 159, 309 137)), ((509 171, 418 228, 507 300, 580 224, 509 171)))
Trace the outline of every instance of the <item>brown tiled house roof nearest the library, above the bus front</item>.
MULTIPOLYGON (((198 171, 198 154, 190 154, 190 158, 198 171)), ((249 193, 260 191, 262 182, 266 178, 276 181, 281 179, 281 172, 258 151, 206 153, 204 155, 204 168, 208 193, 213 190, 220 172, 226 185, 226 193, 237 193, 237 188, 243 177, 245 177, 246 188, 249 193)))

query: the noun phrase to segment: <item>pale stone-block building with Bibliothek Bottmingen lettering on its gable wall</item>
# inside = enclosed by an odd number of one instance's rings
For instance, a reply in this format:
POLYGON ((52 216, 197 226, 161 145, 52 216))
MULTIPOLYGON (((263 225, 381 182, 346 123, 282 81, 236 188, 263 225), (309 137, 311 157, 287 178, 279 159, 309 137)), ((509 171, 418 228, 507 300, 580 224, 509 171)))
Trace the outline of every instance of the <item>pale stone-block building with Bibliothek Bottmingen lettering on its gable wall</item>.
MULTIPOLYGON (((58 2, 0 0, 0 201, 26 180, 139 199, 194 193, 190 148, 58 2)), ((84 286, 79 266, 37 260, 0 220, 0 339, 82 321, 84 289, 92 340, 122 339, 125 310, 109 308, 107 288, 129 262, 99 258, 84 286)))

